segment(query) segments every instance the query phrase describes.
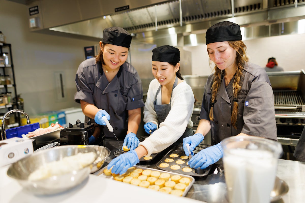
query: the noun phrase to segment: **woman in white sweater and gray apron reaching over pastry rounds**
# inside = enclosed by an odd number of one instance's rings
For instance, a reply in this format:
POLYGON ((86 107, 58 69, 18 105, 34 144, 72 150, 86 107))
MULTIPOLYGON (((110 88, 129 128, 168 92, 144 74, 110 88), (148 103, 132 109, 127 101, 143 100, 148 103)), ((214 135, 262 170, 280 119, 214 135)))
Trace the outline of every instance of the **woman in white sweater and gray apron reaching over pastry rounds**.
POLYGON ((155 77, 147 92, 144 107, 145 131, 152 134, 135 150, 113 159, 112 173, 123 174, 142 156, 161 152, 179 138, 194 134, 191 121, 194 94, 180 74, 180 51, 172 46, 161 46, 152 50, 152 74, 155 77))

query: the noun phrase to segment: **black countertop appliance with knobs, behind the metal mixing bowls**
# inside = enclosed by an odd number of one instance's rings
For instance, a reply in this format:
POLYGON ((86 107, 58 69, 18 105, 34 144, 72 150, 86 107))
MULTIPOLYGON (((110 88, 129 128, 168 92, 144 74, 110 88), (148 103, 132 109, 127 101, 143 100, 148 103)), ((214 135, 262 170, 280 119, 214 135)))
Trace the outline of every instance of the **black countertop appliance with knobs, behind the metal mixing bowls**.
POLYGON ((81 123, 80 120, 76 124, 69 123, 69 127, 60 131, 60 145, 101 145, 105 146, 104 126, 92 122, 90 119, 87 122, 81 123), (96 140, 89 143, 89 138, 94 135, 96 140))

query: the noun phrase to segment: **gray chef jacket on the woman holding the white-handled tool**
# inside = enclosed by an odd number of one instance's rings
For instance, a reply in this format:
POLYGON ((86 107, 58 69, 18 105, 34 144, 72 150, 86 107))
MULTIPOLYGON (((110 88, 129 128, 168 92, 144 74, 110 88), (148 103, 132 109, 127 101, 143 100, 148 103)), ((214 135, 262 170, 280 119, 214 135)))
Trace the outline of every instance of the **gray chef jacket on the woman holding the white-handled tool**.
MULTIPOLYGON (((135 68, 125 62, 117 76, 108 82, 102 63, 90 58, 79 65, 75 83, 77 93, 74 101, 80 103, 83 100, 106 110, 113 132, 118 138, 124 138, 128 128, 128 110, 144 106, 142 81, 135 68)), ((108 128, 104 128, 104 133, 106 137, 114 137, 108 128)))

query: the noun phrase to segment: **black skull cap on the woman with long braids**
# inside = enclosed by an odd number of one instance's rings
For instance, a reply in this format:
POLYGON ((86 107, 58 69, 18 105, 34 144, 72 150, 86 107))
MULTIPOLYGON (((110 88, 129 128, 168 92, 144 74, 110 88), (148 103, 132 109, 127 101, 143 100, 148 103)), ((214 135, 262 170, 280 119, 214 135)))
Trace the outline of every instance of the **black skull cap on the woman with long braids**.
POLYGON ((206 44, 235 40, 242 40, 240 26, 236 23, 223 21, 206 30, 206 44))

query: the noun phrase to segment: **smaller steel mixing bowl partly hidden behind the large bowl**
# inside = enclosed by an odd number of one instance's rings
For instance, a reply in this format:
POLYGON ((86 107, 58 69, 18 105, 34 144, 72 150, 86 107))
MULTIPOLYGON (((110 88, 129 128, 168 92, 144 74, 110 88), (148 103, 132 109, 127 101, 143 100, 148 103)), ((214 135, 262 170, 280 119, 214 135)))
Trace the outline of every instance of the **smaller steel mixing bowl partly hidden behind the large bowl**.
POLYGON ((87 145, 88 148, 93 148, 97 152, 97 158, 92 164, 90 173, 100 170, 105 163, 106 158, 110 155, 110 150, 107 147, 99 145, 87 145))

